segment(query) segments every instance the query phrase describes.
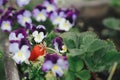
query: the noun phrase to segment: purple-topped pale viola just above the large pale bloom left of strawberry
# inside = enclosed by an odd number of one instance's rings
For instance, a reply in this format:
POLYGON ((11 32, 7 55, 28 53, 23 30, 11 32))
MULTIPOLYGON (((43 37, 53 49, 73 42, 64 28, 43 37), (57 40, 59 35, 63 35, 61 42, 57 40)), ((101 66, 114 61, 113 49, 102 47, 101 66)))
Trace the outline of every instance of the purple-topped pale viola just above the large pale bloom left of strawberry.
POLYGON ((23 38, 26 38, 28 34, 24 28, 19 28, 15 31, 12 31, 9 35, 10 42, 20 42, 23 38))

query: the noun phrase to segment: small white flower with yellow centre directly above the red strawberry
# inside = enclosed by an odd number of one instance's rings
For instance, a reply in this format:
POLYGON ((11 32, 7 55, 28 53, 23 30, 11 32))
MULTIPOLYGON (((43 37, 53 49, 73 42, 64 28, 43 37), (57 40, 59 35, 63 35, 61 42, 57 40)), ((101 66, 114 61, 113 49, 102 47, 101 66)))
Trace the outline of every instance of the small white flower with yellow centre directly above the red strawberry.
POLYGON ((32 35, 36 43, 42 42, 42 40, 45 38, 45 35, 43 32, 38 33, 38 31, 34 31, 32 35))

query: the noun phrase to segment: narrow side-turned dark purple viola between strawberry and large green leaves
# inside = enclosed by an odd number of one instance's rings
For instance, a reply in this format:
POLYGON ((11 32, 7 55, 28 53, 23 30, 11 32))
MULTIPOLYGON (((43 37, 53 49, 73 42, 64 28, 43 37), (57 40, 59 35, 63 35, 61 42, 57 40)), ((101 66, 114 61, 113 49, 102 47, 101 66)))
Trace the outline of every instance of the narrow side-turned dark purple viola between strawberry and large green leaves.
POLYGON ((63 44, 63 40, 61 37, 54 38, 52 44, 58 52, 67 52, 67 47, 63 44))

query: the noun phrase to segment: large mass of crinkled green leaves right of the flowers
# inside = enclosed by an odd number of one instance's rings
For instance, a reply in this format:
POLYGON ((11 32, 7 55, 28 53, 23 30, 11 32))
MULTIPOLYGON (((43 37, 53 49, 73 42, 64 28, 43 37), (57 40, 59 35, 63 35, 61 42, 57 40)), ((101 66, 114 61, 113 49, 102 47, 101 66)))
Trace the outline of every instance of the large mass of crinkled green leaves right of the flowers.
POLYGON ((90 71, 101 72, 108 70, 114 62, 120 61, 120 53, 113 42, 101 40, 93 32, 66 32, 61 34, 61 37, 68 47, 68 55, 75 58, 74 62, 70 61, 71 65, 75 65, 75 62, 82 59, 90 71), (77 59, 76 56, 79 58, 77 59))

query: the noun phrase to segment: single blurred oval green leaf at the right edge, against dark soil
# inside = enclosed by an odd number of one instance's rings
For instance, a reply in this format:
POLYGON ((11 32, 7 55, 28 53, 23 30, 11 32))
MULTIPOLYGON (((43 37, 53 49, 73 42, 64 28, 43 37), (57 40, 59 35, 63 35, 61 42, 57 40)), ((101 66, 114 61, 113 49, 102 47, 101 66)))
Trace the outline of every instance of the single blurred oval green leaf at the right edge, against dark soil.
POLYGON ((107 18, 103 20, 103 24, 110 29, 120 31, 120 19, 107 18))

